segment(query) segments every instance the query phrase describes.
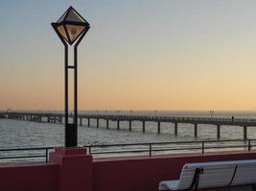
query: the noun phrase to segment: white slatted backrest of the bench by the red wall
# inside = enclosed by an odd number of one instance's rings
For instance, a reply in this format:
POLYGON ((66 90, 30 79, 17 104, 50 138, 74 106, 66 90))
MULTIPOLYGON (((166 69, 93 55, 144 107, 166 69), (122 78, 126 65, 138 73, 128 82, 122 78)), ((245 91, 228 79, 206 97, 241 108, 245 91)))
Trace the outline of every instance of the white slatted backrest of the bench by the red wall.
POLYGON ((202 168, 198 188, 256 183, 256 159, 187 163, 179 178, 179 189, 188 189, 197 168, 202 168), (234 176, 234 178, 233 178, 234 176))

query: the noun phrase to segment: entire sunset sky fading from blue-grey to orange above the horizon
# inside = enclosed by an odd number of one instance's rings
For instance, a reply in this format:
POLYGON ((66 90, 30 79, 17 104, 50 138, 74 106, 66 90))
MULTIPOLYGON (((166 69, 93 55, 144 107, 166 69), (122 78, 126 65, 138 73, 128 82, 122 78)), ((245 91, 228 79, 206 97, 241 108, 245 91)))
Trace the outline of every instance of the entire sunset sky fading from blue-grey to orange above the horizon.
POLYGON ((256 111, 255 0, 1 1, 0 110, 63 109, 69 6, 91 25, 79 110, 256 111))

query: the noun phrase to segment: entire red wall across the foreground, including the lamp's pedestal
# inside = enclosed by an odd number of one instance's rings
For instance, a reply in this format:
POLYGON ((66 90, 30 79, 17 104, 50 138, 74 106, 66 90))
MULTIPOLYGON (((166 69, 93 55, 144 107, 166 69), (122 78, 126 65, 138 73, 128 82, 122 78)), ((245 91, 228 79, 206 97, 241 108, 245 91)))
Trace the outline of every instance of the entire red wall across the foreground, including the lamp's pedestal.
POLYGON ((81 148, 57 148, 50 163, 0 164, 4 191, 156 191, 178 179, 184 163, 256 159, 256 153, 92 159, 81 148))

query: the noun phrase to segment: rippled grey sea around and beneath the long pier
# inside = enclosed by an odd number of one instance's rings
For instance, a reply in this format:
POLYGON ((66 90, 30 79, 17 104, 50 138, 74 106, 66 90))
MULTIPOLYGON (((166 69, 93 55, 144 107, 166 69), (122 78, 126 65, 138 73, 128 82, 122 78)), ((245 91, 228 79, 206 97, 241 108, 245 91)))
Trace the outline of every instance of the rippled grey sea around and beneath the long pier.
MULTIPOLYGON (((20 111, 21 112, 21 111, 20 111)), ((30 111, 31 112, 31 111, 30 111)), ((34 111, 59 113, 59 111, 34 111)), ((81 111, 81 114, 103 115, 140 115, 169 117, 235 117, 256 118, 256 112, 218 112, 218 111, 81 111)), ((161 123, 161 134, 157 134, 157 124, 146 122, 146 133, 142 132, 142 122, 133 121, 132 131, 128 131, 128 122, 120 122, 120 130, 116 121, 109 121, 109 129, 105 128, 105 120, 100 120, 100 128, 91 120, 91 127, 78 127, 78 143, 80 146, 91 144, 122 144, 139 142, 215 140, 215 125, 198 125, 198 138, 194 138, 194 125, 178 124, 178 135, 175 136, 173 123, 161 123)), ((242 139, 243 127, 221 126, 221 139, 242 139)), ((256 127, 247 128, 248 138, 256 138, 256 127)), ((0 119, 0 149, 20 147, 44 147, 64 145, 64 125, 58 123, 32 122, 25 120, 0 119)))

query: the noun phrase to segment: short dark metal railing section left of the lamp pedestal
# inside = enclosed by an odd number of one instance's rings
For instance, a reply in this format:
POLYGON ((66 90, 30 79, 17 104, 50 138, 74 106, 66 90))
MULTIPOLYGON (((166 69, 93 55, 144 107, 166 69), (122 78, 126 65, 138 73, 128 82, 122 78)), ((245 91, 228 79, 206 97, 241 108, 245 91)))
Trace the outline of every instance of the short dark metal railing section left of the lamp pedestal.
POLYGON ((54 147, 0 149, 0 160, 44 159, 47 163, 49 159, 49 150, 53 149, 54 147))

